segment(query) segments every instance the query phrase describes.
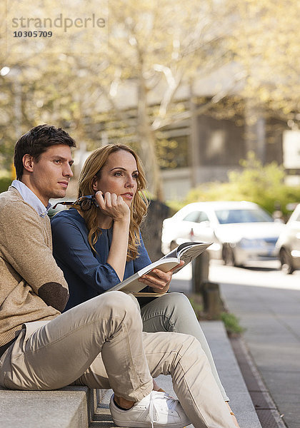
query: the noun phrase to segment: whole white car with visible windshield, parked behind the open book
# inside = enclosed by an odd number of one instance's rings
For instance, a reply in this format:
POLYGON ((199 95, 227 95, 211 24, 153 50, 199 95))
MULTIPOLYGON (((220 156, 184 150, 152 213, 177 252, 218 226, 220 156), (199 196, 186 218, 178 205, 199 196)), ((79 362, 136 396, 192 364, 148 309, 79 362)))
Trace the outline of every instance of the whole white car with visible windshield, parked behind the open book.
POLYGON ((284 224, 247 201, 197 202, 181 208, 163 223, 164 254, 186 240, 213 242, 211 258, 226 265, 276 258, 275 244, 284 224))

